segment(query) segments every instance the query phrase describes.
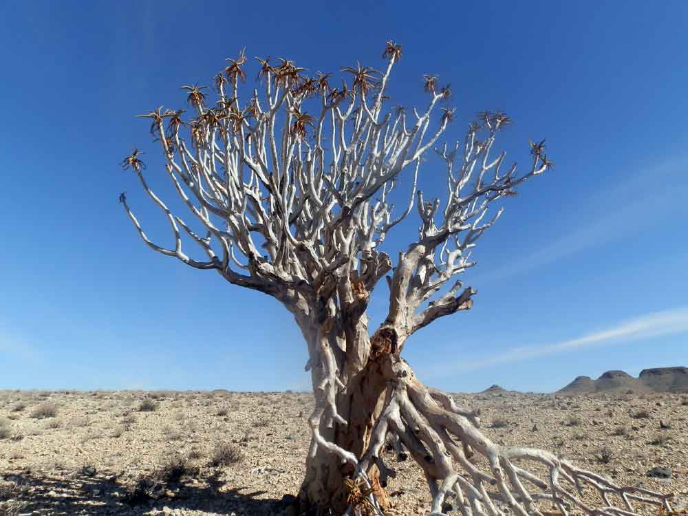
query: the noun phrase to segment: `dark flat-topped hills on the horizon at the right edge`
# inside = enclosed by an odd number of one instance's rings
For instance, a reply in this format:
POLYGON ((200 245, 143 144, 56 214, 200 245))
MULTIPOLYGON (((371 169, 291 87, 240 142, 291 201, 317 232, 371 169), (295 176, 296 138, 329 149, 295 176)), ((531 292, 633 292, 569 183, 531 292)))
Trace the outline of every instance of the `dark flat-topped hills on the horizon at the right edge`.
POLYGON ((623 371, 608 371, 596 380, 579 376, 561 394, 592 394, 595 392, 688 392, 688 367, 656 367, 643 369, 638 378, 623 371))

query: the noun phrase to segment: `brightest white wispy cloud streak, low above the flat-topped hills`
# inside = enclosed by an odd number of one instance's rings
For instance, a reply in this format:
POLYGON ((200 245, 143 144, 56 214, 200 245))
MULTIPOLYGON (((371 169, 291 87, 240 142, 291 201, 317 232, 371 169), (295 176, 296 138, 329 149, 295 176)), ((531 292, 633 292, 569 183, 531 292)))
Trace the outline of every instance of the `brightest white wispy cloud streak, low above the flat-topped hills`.
MULTIPOLYGON (((491 365, 515 363, 557 353, 579 350, 584 347, 622 345, 642 338, 688 332, 688 306, 675 310, 652 312, 617 325, 573 338, 545 345, 514 347, 504 353, 476 361, 462 362, 451 368, 452 373, 484 369, 491 365)), ((447 371, 448 372, 448 371, 447 371)))

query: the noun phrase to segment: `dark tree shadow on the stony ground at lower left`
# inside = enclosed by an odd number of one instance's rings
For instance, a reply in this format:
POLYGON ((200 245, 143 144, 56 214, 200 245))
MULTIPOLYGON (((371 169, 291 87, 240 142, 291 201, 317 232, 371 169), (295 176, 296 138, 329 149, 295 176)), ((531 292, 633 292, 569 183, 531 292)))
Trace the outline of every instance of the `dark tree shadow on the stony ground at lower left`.
POLYGON ((173 515, 200 516, 207 512, 213 516, 272 516, 281 515, 294 502, 288 495, 281 500, 260 498, 265 491, 250 491, 246 487, 223 489, 219 473, 202 478, 202 482, 148 484, 150 488, 138 490, 113 475, 59 477, 22 473, 5 475, 5 480, 10 481, 12 488, 0 491, 0 502, 18 499, 23 505, 19 513, 32 515, 142 515, 166 507, 173 510, 173 515))

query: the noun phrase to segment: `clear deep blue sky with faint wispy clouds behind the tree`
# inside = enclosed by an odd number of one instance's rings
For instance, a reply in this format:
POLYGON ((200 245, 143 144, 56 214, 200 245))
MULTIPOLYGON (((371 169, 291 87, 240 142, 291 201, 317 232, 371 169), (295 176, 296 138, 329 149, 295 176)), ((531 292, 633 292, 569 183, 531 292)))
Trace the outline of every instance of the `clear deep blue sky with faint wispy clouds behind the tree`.
MULTIPOLYGON (((528 138, 547 137, 556 163, 480 241, 473 310, 407 343, 423 380, 553 390, 688 365, 688 3, 298 5, 0 1, 0 388, 307 389, 288 312, 144 246, 121 191, 171 237, 118 162, 149 151, 151 183, 171 194, 133 117, 184 107, 180 86, 210 84, 243 46, 336 71, 380 66, 387 39, 404 46, 396 102, 420 104, 422 74, 440 74, 460 114, 451 136, 503 109, 508 158, 525 164, 528 138)), ((442 174, 423 171, 424 189, 442 174)))

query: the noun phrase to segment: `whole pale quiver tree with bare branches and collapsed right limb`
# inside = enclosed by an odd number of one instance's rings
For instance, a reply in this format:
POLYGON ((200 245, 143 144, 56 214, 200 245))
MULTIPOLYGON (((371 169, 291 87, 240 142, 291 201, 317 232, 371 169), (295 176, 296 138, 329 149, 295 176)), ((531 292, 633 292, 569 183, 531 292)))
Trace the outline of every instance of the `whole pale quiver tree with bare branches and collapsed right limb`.
POLYGON ((345 67, 341 82, 309 76, 286 59, 258 59, 257 87, 242 96, 241 52, 215 76, 215 103, 206 87, 189 85, 188 116, 162 107, 141 115, 151 120, 164 169, 195 225, 150 189, 138 150, 122 166, 164 213, 173 245, 154 244, 122 194, 127 215, 153 250, 268 294, 293 314, 315 397, 303 509, 384 513, 394 475, 385 449, 418 463, 434 515, 450 501, 464 516, 541 516, 550 506, 563 515, 668 509, 669 495, 617 486, 546 451, 491 442, 477 411, 424 386, 401 358, 422 327, 471 308, 476 291, 455 277, 475 264, 473 248, 502 215, 493 206, 552 164, 544 140, 530 142, 523 173, 504 152, 495 155, 497 133, 510 121, 502 112, 479 114, 462 141, 440 144, 454 111, 436 76, 424 76, 423 109, 386 109, 400 57, 401 46, 389 41, 383 71, 345 67), (417 188, 433 151, 446 167, 442 200, 417 188), (393 261, 381 244, 414 211, 418 235, 393 261), (186 239, 206 256, 186 254, 186 239), (375 288, 388 289, 389 310, 371 329, 366 310, 375 288), (599 503, 586 502, 586 491, 599 503))

